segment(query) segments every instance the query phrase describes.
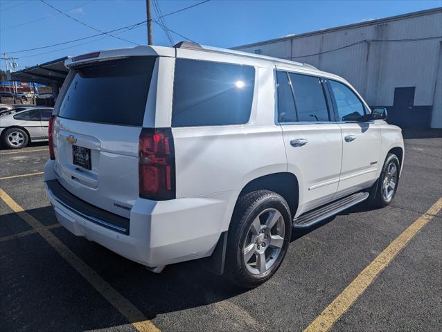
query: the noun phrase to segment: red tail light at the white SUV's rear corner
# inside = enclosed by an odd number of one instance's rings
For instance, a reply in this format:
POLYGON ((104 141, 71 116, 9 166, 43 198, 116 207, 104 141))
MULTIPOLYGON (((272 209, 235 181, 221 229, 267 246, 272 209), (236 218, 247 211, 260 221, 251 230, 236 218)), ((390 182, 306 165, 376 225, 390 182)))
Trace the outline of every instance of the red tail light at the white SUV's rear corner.
POLYGON ((143 199, 175 199, 175 148, 170 128, 141 130, 139 190, 143 199))

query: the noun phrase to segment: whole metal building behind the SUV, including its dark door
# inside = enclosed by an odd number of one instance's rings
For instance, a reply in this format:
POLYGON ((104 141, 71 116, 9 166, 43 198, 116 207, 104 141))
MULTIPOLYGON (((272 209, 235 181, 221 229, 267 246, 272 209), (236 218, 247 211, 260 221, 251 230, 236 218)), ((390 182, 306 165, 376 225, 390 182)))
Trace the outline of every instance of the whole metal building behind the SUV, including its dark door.
POLYGON ((351 82, 400 127, 442 128, 442 8, 233 47, 351 82))

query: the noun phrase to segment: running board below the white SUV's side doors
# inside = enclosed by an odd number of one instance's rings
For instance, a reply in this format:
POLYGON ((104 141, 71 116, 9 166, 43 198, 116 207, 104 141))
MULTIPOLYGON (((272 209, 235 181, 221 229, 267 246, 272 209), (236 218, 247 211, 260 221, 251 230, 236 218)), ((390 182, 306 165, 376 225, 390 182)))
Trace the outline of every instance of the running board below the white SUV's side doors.
POLYGON ((319 221, 330 218, 339 212, 342 212, 357 203, 365 201, 369 197, 368 192, 358 192, 351 196, 344 197, 344 199, 339 199, 322 208, 301 214, 298 218, 293 219, 293 228, 308 228, 319 221))

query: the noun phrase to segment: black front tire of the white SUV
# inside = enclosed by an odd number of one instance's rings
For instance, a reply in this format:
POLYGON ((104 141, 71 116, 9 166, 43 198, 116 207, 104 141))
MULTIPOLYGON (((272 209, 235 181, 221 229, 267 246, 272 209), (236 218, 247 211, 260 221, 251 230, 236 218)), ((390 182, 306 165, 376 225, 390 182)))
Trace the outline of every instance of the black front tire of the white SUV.
POLYGON ((380 176, 378 178, 378 181, 373 185, 371 188, 370 196, 369 196, 369 204, 373 208, 384 208, 385 206, 389 205, 396 195, 396 192, 398 191, 398 185, 399 185, 399 173, 400 173, 400 162, 396 154, 387 154, 387 158, 385 158, 384 165, 382 166, 382 172, 380 172, 380 176), (384 190, 384 181, 386 179, 386 176, 388 177, 388 171, 389 166, 391 164, 396 165, 396 185, 394 187, 394 190, 387 199, 385 198, 385 195, 382 194, 382 190, 384 190))

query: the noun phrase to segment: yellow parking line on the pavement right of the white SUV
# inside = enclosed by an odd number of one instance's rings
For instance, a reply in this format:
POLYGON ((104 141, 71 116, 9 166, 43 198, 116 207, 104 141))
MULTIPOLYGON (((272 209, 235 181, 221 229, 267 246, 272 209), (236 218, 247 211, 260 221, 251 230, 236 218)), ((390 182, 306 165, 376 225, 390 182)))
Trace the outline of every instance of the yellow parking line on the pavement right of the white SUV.
POLYGON ((369 266, 364 268, 356 279, 349 284, 341 294, 339 294, 333 302, 304 330, 304 332, 328 331, 333 324, 344 314, 353 302, 360 297, 368 286, 373 282, 375 277, 386 268, 398 252, 402 250, 407 243, 423 228, 432 218, 442 209, 442 198, 436 201, 432 207, 420 216, 412 225, 409 226, 402 234, 400 234, 393 242, 389 244, 372 261, 369 266))

